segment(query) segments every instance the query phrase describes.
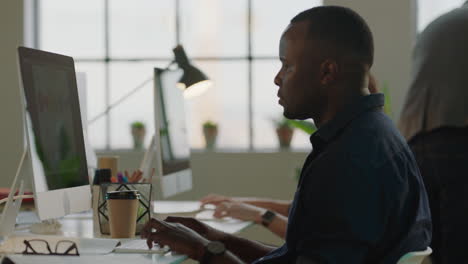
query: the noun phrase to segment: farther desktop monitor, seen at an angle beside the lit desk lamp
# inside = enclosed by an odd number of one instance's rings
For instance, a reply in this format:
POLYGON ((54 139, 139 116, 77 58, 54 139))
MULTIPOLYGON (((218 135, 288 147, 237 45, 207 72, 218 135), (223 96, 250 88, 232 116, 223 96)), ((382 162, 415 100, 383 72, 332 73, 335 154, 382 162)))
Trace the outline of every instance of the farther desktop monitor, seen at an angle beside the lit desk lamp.
MULTIPOLYGON (((181 75, 180 70, 156 68, 154 72, 156 132, 148 152, 156 153, 156 166, 153 166, 156 168, 156 177, 153 177, 153 197, 157 199, 168 198, 192 189, 185 101, 183 91, 177 87, 181 75)), ((148 167, 151 165, 147 165, 146 170, 148 167)))

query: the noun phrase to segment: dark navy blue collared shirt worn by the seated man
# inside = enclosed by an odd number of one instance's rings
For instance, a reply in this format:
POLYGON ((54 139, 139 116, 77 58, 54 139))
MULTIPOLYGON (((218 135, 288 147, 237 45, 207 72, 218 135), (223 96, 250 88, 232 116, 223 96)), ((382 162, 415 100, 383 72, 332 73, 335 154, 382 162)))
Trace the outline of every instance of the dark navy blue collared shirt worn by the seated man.
POLYGON ((314 133, 285 244, 255 263, 395 264, 431 241, 424 184, 382 94, 350 104, 314 133))

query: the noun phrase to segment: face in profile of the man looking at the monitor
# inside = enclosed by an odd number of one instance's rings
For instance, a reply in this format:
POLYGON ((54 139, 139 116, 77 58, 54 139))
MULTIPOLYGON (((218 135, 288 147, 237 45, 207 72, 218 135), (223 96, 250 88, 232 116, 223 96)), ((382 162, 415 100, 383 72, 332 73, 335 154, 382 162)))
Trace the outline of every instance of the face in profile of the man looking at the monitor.
POLYGON ((281 69, 274 82, 278 85, 279 104, 290 119, 313 118, 325 98, 319 80, 320 60, 314 41, 307 37, 309 22, 290 24, 280 40, 281 69))

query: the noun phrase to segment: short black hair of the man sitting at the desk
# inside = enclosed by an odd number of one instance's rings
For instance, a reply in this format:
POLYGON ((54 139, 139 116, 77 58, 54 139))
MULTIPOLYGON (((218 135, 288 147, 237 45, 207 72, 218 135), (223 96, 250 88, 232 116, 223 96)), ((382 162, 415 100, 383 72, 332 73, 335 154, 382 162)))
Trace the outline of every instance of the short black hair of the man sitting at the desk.
POLYGON ((309 21, 308 36, 325 41, 336 51, 353 55, 372 65, 374 43, 366 21, 353 10, 341 6, 319 6, 296 15, 291 23, 309 21))

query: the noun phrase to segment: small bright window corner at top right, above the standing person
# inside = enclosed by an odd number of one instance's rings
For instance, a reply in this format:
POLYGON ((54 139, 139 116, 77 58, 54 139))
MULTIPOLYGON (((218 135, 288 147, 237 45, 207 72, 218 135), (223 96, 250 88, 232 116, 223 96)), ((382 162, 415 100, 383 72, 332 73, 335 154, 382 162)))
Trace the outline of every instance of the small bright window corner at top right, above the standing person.
POLYGON ((418 31, 444 13, 460 7, 466 0, 418 0, 418 31))

